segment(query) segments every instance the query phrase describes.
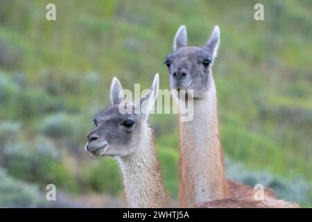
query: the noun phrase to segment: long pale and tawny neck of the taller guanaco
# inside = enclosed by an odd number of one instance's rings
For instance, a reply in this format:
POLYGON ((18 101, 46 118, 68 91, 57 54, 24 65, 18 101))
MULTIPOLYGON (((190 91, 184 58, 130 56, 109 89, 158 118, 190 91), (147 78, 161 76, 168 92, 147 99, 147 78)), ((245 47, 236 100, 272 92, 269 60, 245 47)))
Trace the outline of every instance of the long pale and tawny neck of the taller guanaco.
POLYGON ((193 101, 193 120, 180 121, 180 206, 224 198, 227 182, 219 139, 216 87, 193 101))

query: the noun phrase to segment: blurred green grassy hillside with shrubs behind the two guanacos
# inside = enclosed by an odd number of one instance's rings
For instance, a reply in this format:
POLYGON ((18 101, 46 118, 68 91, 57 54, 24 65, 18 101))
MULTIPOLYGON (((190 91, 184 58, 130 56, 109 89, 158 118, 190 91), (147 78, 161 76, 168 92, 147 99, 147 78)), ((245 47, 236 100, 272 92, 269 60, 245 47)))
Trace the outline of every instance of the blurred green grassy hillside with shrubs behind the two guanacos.
MULTIPOLYGON (((214 65, 227 176, 312 207, 311 1, 0 0, 0 207, 123 207, 119 167, 84 151, 109 86, 150 86, 185 24, 214 65), (57 20, 46 20, 55 3, 57 20), (263 3, 265 21, 254 20, 263 3), (47 184, 56 202, 45 200, 47 184)), ((164 185, 177 201, 177 115, 153 114, 164 185)))

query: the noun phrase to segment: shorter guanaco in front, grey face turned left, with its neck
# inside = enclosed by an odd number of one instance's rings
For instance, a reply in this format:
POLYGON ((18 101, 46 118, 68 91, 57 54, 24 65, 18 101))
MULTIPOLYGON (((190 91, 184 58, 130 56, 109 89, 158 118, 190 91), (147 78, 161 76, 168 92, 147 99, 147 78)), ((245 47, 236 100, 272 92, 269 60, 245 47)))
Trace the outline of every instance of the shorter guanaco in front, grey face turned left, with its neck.
MULTIPOLYGON (((86 150, 92 155, 115 157, 121 167, 125 198, 128 207, 168 207, 168 198, 162 185, 159 164, 155 151, 153 132, 148 128, 148 111, 153 107, 159 88, 158 74, 149 92, 142 97, 139 105, 146 113, 119 112, 123 107, 121 84, 117 78, 112 80, 112 105, 94 119, 96 128, 88 135, 86 150), (125 119, 132 121, 125 127, 125 119)), ((101 175, 100 175, 101 176, 101 175)))

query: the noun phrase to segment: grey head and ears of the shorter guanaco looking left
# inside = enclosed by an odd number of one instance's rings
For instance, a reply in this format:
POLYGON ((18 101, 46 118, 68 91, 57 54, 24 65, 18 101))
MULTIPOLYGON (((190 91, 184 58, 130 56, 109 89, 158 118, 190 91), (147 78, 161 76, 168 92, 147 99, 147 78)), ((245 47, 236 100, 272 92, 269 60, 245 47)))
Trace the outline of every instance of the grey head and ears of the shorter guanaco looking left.
POLYGON ((96 127, 87 135, 85 150, 95 156, 125 156, 136 152, 146 140, 148 113, 155 103, 158 88, 159 76, 156 74, 152 87, 138 104, 123 103, 121 83, 113 78, 110 89, 112 105, 95 117, 96 127), (127 108, 129 105, 130 109, 127 108), (135 112, 138 109, 139 112, 135 112))

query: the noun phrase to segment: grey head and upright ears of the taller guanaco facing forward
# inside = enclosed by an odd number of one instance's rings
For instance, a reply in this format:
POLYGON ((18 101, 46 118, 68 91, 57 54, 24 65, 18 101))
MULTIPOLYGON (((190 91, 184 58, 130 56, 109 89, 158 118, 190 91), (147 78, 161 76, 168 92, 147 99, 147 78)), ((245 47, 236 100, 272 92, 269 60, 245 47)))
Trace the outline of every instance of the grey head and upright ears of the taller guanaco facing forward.
POLYGON ((166 63, 170 64, 170 85, 171 89, 193 89, 193 97, 200 99, 211 84, 211 67, 216 59, 220 31, 215 26, 207 44, 202 47, 187 46, 187 37, 184 36, 186 33, 185 26, 181 26, 175 35, 174 51, 166 58, 166 63), (204 60, 210 62, 209 66, 203 65, 204 60))

